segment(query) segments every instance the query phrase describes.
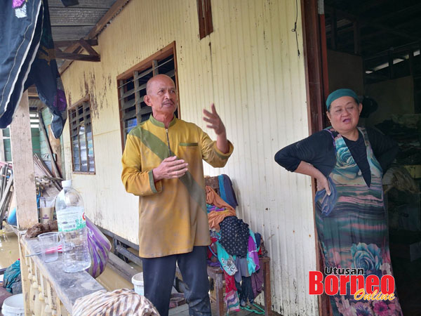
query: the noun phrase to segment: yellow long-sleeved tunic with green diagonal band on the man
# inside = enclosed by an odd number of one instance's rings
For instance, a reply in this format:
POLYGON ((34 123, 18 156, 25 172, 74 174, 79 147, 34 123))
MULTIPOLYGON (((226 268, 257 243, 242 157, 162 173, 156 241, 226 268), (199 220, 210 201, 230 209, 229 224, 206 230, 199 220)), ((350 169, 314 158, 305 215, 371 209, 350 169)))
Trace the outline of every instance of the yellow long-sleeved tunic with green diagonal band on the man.
POLYGON ((192 251, 210 244, 202 159, 222 167, 224 154, 196 124, 174 119, 168 129, 154 117, 127 136, 121 162, 126 191, 139 196, 139 256, 156 258, 192 251), (185 176, 154 182, 152 169, 177 156, 188 165, 185 176))

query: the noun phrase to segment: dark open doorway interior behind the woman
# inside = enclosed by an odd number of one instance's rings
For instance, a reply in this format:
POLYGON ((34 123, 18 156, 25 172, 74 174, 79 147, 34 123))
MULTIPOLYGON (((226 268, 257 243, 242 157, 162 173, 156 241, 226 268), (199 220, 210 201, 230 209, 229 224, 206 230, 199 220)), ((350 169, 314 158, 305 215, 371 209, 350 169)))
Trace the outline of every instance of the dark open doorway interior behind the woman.
POLYGON ((403 315, 421 315, 421 3, 319 1, 319 27, 324 98, 352 88, 360 125, 399 143, 383 180, 389 246, 403 315))

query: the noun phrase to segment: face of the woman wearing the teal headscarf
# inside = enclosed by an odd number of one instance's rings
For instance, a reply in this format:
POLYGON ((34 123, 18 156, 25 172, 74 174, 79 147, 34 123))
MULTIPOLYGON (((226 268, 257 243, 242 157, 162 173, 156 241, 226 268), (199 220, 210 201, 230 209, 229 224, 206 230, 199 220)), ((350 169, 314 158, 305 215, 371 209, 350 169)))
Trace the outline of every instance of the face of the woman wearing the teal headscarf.
POLYGON ((361 103, 356 103, 356 100, 350 96, 343 96, 330 104, 327 114, 333 129, 338 133, 346 134, 356 129, 361 110, 363 110, 361 103))

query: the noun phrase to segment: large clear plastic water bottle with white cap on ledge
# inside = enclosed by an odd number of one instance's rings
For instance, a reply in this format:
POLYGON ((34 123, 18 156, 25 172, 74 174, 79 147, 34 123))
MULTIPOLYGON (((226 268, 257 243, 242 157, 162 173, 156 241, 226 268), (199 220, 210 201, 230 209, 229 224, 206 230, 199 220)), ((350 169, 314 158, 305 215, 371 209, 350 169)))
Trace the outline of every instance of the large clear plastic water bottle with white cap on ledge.
POLYGON ((72 180, 62 181, 62 187, 55 199, 55 211, 63 249, 63 270, 79 272, 91 266, 83 200, 72 187, 72 180))

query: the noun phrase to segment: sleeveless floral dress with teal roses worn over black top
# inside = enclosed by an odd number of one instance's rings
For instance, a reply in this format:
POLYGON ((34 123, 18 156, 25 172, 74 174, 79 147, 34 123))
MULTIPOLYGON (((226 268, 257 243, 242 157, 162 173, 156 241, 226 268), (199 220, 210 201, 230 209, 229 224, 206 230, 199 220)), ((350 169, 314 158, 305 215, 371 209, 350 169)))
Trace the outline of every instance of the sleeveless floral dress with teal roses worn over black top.
MULTIPOLYGON (((386 212, 383 204, 382 168, 374 157, 365 129, 363 135, 371 184, 366 184, 359 166, 340 134, 333 138, 336 164, 328 176, 331 195, 316 193, 316 228, 326 267, 363 268, 365 276, 393 275, 389 254, 386 212)), ((349 285, 349 284, 348 284, 349 285)), ((354 296, 330 296, 333 315, 402 315, 396 295, 392 301, 354 300, 354 296)))

